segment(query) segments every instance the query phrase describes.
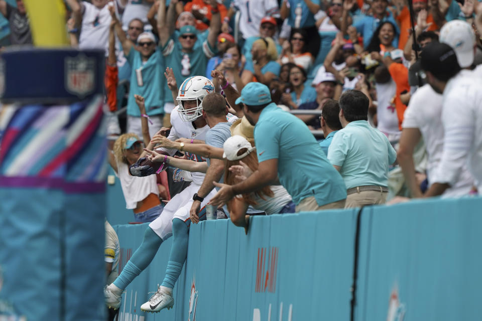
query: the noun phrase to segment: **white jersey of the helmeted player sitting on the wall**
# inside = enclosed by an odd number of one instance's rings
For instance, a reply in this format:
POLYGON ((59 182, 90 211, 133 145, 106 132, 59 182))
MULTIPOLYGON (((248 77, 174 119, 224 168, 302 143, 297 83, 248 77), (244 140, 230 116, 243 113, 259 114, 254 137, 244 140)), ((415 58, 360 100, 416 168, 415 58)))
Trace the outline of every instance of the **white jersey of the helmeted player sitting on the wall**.
MULTIPOLYGON (((189 138, 189 139, 198 139, 198 140, 205 140, 206 139, 206 132, 209 130, 209 126, 205 125, 202 128, 194 128, 191 121, 183 121, 179 116, 178 112, 179 106, 176 106, 171 112, 171 131, 169 136, 167 137, 170 140, 176 140, 178 138, 189 138)), ((237 117, 228 114, 227 120, 229 122, 233 122, 236 120, 237 117)), ((170 155, 174 155, 176 153, 176 149, 167 149, 167 148, 160 148, 160 150, 168 152, 170 155)), ((195 162, 206 162, 206 158, 186 152, 191 161, 195 162)), ((202 181, 204 180, 204 173, 191 173, 192 181, 194 184, 201 185, 202 181)))

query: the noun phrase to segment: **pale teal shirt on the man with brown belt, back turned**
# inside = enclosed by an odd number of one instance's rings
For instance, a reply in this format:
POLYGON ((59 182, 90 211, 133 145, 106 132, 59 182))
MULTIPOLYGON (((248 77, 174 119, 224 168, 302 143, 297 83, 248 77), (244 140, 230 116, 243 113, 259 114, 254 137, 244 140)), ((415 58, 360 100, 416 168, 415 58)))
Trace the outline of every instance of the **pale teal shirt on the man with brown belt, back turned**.
POLYGON ((331 164, 341 167, 346 189, 357 186, 388 186, 388 167, 397 152, 387 136, 366 120, 349 122, 333 136, 328 148, 331 164))

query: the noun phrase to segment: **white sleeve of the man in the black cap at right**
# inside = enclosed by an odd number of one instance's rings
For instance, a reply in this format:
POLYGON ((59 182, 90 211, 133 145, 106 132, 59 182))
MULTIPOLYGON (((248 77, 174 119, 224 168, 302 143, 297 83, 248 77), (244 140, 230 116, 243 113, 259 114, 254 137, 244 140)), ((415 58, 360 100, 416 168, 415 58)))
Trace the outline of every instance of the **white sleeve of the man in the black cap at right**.
POLYGON ((475 136, 474 88, 464 86, 457 95, 450 95, 443 102, 443 152, 433 177, 434 183, 457 183, 462 167, 467 163, 475 136), (464 98, 462 98, 464 97, 464 98))

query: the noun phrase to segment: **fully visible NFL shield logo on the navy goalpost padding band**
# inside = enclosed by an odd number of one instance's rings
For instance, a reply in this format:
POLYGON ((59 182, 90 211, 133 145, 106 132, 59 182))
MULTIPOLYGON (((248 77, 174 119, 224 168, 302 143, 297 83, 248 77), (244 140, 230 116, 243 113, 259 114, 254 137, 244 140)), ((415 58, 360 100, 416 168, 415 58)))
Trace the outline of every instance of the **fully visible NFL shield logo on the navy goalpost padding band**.
POLYGON ((95 87, 95 59, 85 55, 65 58, 65 90, 83 98, 95 87))

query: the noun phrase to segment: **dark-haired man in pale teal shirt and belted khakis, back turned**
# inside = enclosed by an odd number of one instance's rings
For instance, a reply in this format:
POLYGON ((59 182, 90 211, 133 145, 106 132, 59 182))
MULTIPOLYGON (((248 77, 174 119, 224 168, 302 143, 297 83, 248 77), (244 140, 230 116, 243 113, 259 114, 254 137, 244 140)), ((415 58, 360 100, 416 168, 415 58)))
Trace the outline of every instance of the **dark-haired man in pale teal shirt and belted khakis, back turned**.
POLYGON ((340 122, 328 148, 328 159, 346 184, 346 207, 384 204, 388 194, 388 168, 397 153, 387 136, 368 123, 368 97, 345 91, 339 100, 340 122))

